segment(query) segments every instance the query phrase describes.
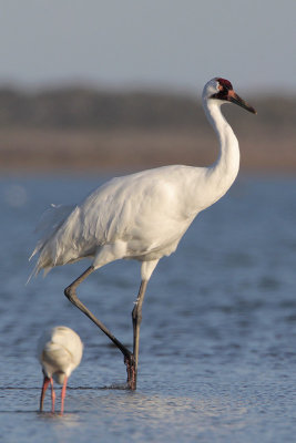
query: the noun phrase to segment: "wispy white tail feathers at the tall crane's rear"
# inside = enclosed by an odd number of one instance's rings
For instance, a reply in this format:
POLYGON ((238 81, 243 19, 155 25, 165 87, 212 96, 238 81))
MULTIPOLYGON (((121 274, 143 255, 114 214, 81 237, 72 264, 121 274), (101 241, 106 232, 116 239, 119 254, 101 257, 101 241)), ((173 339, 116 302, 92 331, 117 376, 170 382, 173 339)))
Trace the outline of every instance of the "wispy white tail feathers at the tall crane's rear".
POLYGON ((55 266, 57 254, 53 255, 55 258, 52 260, 52 256, 49 257, 48 254, 42 253, 45 253, 45 246, 60 229, 74 208, 75 205, 51 205, 51 207, 41 216, 41 219, 35 228, 35 231, 40 233, 40 239, 38 240, 29 260, 31 260, 37 254, 40 254, 40 256, 27 282, 29 282, 33 276, 37 276, 41 269, 44 269, 44 275, 47 275, 50 269, 55 266))

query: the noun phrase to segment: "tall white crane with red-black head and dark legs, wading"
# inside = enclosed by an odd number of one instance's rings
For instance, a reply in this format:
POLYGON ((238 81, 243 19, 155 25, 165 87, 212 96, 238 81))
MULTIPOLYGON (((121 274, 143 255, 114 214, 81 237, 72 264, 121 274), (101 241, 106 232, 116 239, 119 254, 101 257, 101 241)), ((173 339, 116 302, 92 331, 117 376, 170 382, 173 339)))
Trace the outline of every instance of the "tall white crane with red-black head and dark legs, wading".
POLYGON ((224 103, 256 113, 234 92, 229 81, 215 78, 206 83, 203 106, 220 142, 220 155, 213 165, 164 166, 113 178, 80 205, 55 206, 43 220, 44 234, 32 254, 39 253, 33 274, 85 257, 92 259, 64 293, 122 351, 130 389, 136 388, 142 303, 155 266, 175 251, 196 215, 217 202, 238 173, 238 142, 222 115, 224 103), (123 258, 141 262, 141 286, 132 311, 133 352, 94 317, 75 291, 95 269, 123 258))

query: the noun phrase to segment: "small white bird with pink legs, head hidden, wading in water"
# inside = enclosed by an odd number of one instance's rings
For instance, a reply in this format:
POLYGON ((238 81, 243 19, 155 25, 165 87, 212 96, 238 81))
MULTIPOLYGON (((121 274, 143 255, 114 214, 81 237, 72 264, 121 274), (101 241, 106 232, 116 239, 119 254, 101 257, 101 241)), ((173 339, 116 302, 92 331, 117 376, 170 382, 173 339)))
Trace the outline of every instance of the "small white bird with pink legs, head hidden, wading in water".
POLYGON ((42 365, 43 385, 40 398, 40 411, 47 389, 51 384, 51 412, 54 412, 55 393, 53 380, 62 384, 61 414, 63 413, 67 382, 72 371, 80 364, 83 344, 80 337, 65 326, 47 330, 38 342, 38 359, 42 365))

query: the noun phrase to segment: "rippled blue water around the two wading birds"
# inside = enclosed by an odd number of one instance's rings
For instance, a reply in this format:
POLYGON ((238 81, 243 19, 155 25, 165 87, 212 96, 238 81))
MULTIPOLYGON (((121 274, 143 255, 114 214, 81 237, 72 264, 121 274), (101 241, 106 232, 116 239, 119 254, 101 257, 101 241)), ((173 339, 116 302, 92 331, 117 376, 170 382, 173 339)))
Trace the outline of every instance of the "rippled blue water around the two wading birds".
MULTIPOLYGON (((102 179, 0 181, 1 442, 296 441, 296 178, 241 175, 161 260, 143 307, 136 392, 106 389, 125 381, 122 356, 63 296, 88 261, 24 286, 42 212, 102 179), (55 324, 85 347, 63 416, 49 412, 49 394, 38 412, 35 346, 55 324)), ((129 347, 139 284, 139 264, 120 261, 79 289, 129 347)))

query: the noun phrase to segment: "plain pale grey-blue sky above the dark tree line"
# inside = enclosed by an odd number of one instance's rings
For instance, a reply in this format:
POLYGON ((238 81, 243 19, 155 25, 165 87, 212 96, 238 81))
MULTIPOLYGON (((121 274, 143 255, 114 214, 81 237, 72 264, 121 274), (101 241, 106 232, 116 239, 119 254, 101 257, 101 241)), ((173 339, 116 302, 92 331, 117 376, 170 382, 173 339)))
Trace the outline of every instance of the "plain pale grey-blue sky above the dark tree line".
POLYGON ((0 85, 296 95, 295 0, 0 0, 0 85))

